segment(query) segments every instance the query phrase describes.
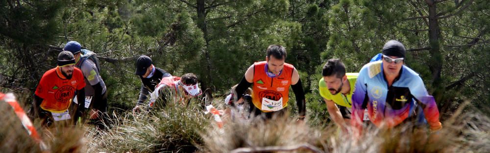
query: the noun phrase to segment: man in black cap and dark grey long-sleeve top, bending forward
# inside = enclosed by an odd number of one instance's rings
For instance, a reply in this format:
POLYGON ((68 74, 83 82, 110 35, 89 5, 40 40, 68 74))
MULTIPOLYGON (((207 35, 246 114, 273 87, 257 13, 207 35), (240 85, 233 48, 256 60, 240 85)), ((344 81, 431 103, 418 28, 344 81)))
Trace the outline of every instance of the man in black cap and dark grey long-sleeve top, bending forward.
POLYGON ((172 76, 169 72, 153 66, 151 58, 145 55, 140 56, 138 60, 136 60, 135 74, 141 79, 141 91, 133 112, 141 110, 141 105, 147 100, 147 95, 150 91, 153 92, 153 90, 155 90, 155 86, 160 83, 162 78, 172 76))

